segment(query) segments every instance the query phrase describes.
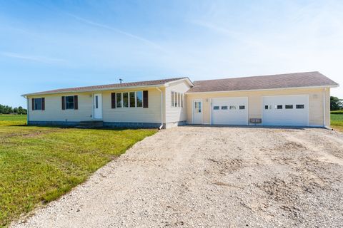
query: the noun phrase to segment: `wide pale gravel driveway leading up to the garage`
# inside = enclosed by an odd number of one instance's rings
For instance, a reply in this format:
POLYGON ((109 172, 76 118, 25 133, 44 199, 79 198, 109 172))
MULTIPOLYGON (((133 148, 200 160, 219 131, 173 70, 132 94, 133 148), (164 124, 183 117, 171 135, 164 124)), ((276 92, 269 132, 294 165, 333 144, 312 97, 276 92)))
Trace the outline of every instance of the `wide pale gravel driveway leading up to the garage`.
POLYGON ((13 227, 343 227, 343 134, 161 130, 13 227))

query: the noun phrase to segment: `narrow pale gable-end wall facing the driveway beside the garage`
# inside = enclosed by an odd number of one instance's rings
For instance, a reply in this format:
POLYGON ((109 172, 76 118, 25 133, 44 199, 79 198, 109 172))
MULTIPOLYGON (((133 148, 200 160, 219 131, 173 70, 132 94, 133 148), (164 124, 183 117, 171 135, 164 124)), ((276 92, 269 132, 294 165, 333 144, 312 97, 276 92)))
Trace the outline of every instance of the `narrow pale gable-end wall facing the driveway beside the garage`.
MULTIPOLYGON (((166 110, 166 123, 168 126, 172 127, 174 125, 182 125, 187 119, 187 98, 184 94, 184 106, 172 107, 172 91, 177 93, 186 93, 189 90, 189 85, 186 81, 180 81, 171 83, 170 86, 166 87, 165 95, 165 110, 166 110)), ((169 128, 170 128, 169 127, 169 128)))

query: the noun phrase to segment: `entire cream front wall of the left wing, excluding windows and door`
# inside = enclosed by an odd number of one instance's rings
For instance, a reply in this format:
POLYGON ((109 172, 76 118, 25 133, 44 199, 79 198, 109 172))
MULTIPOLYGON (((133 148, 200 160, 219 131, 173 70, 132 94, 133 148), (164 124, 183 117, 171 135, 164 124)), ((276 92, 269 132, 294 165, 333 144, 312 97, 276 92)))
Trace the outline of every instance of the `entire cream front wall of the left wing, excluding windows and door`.
MULTIPOLYGON (((164 92, 164 88, 161 88, 164 92)), ((93 94, 102 94, 102 110, 105 123, 158 123, 161 125, 161 93, 156 88, 139 88, 113 91, 94 91, 92 93, 61 93, 55 95, 38 95, 29 97, 29 121, 31 123, 59 124, 68 122, 75 125, 79 121, 94 120, 93 116, 93 94), (111 93, 133 92, 148 90, 148 108, 111 108, 111 93), (78 95, 77 110, 62 110, 61 96, 78 95), (45 110, 32 110, 31 98, 45 98, 45 110)), ((164 106, 162 106, 164 108, 164 106)))

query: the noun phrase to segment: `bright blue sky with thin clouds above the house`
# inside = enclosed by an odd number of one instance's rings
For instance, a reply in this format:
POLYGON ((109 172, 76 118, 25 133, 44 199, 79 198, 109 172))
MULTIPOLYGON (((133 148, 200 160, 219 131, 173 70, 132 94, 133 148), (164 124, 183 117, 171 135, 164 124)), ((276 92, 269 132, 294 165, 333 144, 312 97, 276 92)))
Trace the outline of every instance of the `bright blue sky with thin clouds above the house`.
POLYGON ((343 86, 342 12, 330 0, 0 0, 0 103, 119 78, 320 71, 343 86))

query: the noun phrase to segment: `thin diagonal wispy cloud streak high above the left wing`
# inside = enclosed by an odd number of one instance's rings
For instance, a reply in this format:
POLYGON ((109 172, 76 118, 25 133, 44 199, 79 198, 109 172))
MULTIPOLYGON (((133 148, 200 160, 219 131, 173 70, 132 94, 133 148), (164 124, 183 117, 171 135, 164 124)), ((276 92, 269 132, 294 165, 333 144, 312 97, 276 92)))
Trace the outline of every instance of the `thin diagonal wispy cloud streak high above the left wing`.
POLYGON ((154 41, 150 41, 150 40, 148 40, 146 38, 143 38, 141 36, 136 36, 134 34, 126 32, 126 31, 122 31, 122 30, 120 30, 118 28, 113 28, 111 26, 107 26, 106 24, 100 24, 100 23, 97 23, 95 21, 91 21, 89 19, 84 19, 84 18, 82 18, 80 16, 76 16, 74 14, 68 14, 68 15, 74 17, 74 19, 76 19, 78 21, 84 22, 85 24, 89 24, 91 26, 96 26, 96 27, 99 27, 99 28, 105 28, 105 29, 111 30, 111 31, 115 31, 116 33, 121 33, 121 34, 123 34, 125 36, 129 36, 131 38, 134 38, 136 40, 142 41, 144 43, 148 43, 149 45, 154 46, 155 48, 163 50, 163 48, 161 46, 159 46, 159 44, 155 43, 154 41))

